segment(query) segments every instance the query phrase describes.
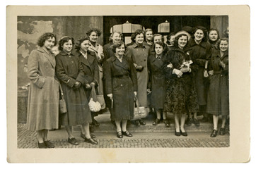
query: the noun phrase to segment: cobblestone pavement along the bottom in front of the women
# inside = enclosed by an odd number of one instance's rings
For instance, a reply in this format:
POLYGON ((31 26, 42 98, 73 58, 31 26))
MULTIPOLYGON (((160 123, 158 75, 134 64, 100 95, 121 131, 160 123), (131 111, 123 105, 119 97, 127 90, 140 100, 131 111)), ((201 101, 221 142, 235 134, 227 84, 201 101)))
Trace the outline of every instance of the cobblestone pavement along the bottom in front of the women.
MULTIPOLYGON (((166 133, 166 132, 165 132, 166 133)), ((97 133, 98 145, 83 142, 83 139, 75 133, 79 145, 71 145, 67 142, 67 134, 64 129, 49 132, 51 142, 55 148, 153 148, 153 147, 228 147, 229 135, 209 137, 210 133, 190 132, 190 137, 175 137, 174 134, 165 133, 133 133, 134 137, 118 139, 113 133, 97 133), (58 136, 59 135, 59 136, 58 136), (194 136, 193 136, 194 135, 194 136), (66 138, 64 138, 66 137, 66 138), (60 139, 63 138, 63 139, 60 139), (156 139, 158 138, 158 139, 156 139)), ((24 124, 18 124, 18 149, 37 148, 36 133, 25 129, 24 124)))

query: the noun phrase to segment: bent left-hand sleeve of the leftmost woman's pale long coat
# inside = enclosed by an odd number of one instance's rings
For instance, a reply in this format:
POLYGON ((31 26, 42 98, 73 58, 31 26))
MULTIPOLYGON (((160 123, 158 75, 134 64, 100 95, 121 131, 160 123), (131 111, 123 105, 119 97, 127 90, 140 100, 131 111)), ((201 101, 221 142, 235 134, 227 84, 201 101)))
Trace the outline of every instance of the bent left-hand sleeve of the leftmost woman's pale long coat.
POLYGON ((39 73, 39 62, 39 52, 32 51, 28 57, 28 78, 37 87, 42 88, 42 86, 45 84, 45 77, 39 73))

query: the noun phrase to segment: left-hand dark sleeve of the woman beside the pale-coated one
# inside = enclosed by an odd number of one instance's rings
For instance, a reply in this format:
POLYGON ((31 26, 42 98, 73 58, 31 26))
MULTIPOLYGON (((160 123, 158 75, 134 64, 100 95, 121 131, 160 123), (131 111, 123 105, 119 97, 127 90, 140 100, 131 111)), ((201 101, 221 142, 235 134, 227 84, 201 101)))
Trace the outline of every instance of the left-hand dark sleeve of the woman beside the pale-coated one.
POLYGON ((76 83, 76 80, 74 80, 74 78, 69 77, 68 75, 66 75, 61 57, 62 56, 60 56, 60 55, 55 56, 56 75, 57 75, 57 77, 60 81, 66 83, 69 87, 73 87, 74 84, 76 83))

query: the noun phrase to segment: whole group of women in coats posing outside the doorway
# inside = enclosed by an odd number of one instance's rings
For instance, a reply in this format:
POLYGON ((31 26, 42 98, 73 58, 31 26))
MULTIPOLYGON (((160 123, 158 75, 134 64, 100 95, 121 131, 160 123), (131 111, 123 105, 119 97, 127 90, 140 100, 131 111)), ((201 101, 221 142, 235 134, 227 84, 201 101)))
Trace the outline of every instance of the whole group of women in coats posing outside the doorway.
POLYGON ((175 135, 187 136, 187 125, 199 126, 197 113, 206 122, 213 116, 218 134, 225 134, 228 101, 228 38, 220 38, 218 30, 208 34, 204 27, 195 27, 192 35, 181 30, 171 33, 167 43, 151 29, 136 30, 132 43, 125 46, 121 32, 113 32, 110 43, 98 44, 100 30, 88 30, 86 37, 74 42, 72 37, 59 40, 59 54, 54 53, 57 39, 45 33, 38 40, 38 49, 28 58, 31 80, 28 96, 28 130, 37 132, 39 148, 53 148, 48 130, 64 125, 68 142, 78 145, 71 126, 81 125, 84 142, 98 144, 90 133, 90 125, 100 125, 91 113, 88 101, 91 90, 104 94, 117 137, 132 137, 127 121, 146 125, 143 119, 133 120, 134 100, 156 113, 153 125, 170 126, 166 113, 174 113, 175 135), (208 35, 208 38, 207 38, 208 35), (208 39, 208 42, 207 42, 208 39), (75 50, 74 50, 75 49, 75 50), (55 55, 55 57, 54 57, 55 55), (59 89, 64 93, 66 113, 59 113, 59 89), (188 113, 188 115, 187 115, 188 113))

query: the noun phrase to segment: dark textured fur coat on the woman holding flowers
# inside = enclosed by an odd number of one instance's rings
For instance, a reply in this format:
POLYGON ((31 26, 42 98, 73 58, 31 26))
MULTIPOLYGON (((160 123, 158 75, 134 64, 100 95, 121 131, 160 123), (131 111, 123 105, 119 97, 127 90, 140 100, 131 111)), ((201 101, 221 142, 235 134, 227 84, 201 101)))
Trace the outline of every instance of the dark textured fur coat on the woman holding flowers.
POLYGON ((182 50, 175 47, 165 56, 164 71, 166 77, 166 94, 164 111, 171 113, 195 113, 198 111, 197 92, 194 85, 194 65, 190 66, 192 72, 183 73, 181 77, 173 74, 173 69, 180 70, 183 61, 190 61, 190 48, 182 50), (173 68, 168 68, 169 63, 173 68))

